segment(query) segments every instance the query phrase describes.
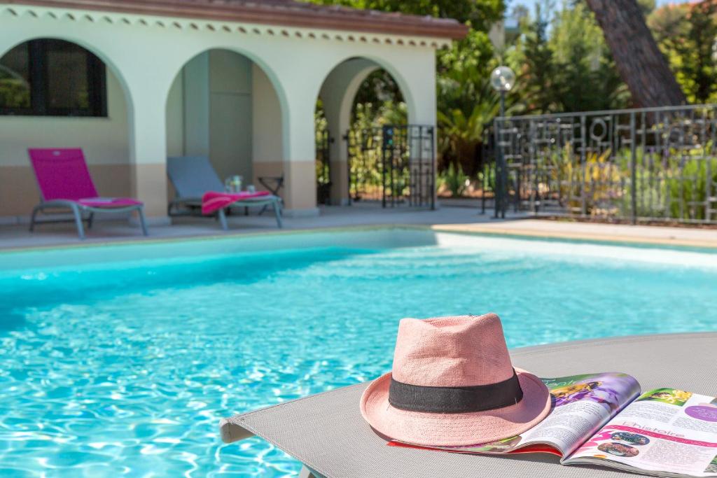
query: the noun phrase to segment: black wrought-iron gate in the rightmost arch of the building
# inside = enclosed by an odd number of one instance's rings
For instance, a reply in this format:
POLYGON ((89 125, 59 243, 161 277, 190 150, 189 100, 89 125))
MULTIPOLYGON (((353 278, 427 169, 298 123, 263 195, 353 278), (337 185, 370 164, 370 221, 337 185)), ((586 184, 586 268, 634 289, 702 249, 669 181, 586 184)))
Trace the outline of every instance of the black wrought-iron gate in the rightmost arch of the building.
POLYGON ((349 130, 349 201, 435 209, 435 130, 426 125, 385 125, 349 130))

